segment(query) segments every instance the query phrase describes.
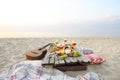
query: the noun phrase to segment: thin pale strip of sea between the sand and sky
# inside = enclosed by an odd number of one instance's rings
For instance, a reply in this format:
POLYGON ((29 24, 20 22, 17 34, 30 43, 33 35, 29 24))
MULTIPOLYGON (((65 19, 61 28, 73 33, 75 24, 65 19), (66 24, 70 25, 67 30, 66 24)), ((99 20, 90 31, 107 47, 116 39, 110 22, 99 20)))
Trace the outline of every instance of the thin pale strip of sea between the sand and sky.
POLYGON ((118 37, 116 35, 104 35, 104 34, 81 34, 81 35, 65 35, 65 34, 59 34, 59 33, 49 33, 49 32, 0 32, 0 38, 52 38, 52 37, 72 37, 72 38, 79 38, 79 37, 118 37))

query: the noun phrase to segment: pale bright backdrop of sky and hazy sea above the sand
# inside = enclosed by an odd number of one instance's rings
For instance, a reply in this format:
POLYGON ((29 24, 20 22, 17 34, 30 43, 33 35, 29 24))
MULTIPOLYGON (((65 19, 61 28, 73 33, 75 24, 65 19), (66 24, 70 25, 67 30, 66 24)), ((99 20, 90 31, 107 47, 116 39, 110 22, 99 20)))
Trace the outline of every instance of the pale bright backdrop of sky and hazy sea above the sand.
POLYGON ((1 0, 0 37, 120 37, 120 0, 1 0))

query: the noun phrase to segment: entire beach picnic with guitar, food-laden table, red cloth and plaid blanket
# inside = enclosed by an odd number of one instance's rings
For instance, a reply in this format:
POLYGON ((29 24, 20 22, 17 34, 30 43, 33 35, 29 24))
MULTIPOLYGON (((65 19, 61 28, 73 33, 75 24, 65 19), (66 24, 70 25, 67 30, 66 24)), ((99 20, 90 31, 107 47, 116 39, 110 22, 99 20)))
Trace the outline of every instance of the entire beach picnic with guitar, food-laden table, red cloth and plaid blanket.
POLYGON ((12 65, 0 80, 102 80, 94 72, 76 78, 66 71, 87 70, 88 65, 101 64, 105 60, 90 49, 78 48, 76 42, 55 41, 39 49, 27 51, 26 61, 12 65))

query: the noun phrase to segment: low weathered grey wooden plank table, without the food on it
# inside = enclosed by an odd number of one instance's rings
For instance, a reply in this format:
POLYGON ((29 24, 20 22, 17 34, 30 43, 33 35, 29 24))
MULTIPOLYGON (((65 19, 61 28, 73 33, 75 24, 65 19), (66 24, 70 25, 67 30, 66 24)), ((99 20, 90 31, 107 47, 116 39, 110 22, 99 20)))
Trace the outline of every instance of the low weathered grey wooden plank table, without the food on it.
POLYGON ((50 52, 51 48, 49 48, 45 58, 43 59, 42 65, 50 65, 53 66, 53 68, 61 71, 79 71, 87 69, 87 63, 89 63, 89 59, 84 54, 79 57, 68 57, 65 60, 61 60, 60 56, 50 57, 50 52))

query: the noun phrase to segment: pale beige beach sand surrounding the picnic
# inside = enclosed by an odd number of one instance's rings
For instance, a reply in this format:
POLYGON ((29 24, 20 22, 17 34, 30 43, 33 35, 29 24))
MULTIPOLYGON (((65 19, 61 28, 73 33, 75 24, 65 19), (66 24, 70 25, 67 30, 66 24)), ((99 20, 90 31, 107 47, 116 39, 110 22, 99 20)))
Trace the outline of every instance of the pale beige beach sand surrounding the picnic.
MULTIPOLYGON (((25 60, 25 52, 40 48, 49 42, 64 38, 0 38, 0 74, 10 65, 25 60)), ((88 72, 100 74, 103 80, 120 80, 120 38, 66 38, 76 41, 78 46, 90 48, 98 56, 106 59, 100 65, 89 65, 86 71, 68 71, 76 77, 88 72)))

